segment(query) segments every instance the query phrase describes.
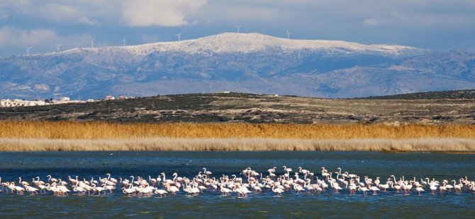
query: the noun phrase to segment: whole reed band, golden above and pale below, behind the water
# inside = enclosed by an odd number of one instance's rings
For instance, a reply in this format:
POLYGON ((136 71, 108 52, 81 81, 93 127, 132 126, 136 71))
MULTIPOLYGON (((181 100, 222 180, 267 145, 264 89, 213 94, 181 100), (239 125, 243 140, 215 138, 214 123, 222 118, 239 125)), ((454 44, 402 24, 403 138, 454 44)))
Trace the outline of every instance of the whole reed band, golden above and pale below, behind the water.
POLYGON ((0 150, 475 151, 473 125, 0 122, 0 150))

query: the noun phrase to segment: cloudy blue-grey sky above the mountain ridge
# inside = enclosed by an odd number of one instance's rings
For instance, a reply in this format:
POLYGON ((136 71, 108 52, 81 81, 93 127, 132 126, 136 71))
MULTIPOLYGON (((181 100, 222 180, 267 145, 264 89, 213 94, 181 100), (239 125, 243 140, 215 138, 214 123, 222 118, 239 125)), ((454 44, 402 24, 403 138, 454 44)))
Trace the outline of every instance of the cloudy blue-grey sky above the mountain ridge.
POLYGON ((475 0, 0 0, 0 56, 221 32, 475 52, 475 0))

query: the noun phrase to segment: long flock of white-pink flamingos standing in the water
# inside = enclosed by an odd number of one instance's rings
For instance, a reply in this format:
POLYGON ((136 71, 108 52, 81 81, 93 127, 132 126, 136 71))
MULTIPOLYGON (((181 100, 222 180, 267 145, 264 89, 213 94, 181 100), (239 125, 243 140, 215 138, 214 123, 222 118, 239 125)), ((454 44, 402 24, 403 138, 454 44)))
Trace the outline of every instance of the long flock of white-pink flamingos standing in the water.
POLYGON ((371 179, 365 175, 342 172, 340 167, 336 172, 331 172, 322 167, 318 174, 298 167, 298 171, 290 167, 283 166, 283 174, 276 174, 276 167, 267 170, 266 174, 256 172, 251 167, 247 167, 242 172, 236 174, 213 176, 213 173, 203 168, 194 177, 179 177, 175 172, 171 177, 162 172, 156 178, 148 176, 118 179, 106 174, 106 177, 99 179, 79 179, 79 176, 70 177, 66 180, 57 179, 47 175, 45 182, 40 177, 35 177, 32 181, 23 181, 18 177, 18 182, 2 182, 0 177, 1 192, 7 194, 23 195, 26 192, 31 196, 52 194, 54 196, 68 196, 69 194, 104 196, 114 191, 121 191, 125 196, 160 196, 186 194, 189 196, 199 196, 203 192, 221 193, 223 196, 237 195, 247 197, 248 194, 260 194, 273 192, 276 196, 283 194, 320 194, 321 192, 349 194, 371 193, 377 195, 384 193, 411 194, 422 193, 445 194, 449 192, 462 193, 471 192, 475 194, 475 182, 469 181, 467 177, 459 177, 455 180, 443 179, 437 181, 435 178, 405 179, 404 176, 396 179, 394 175, 385 180, 381 177, 371 179), (120 188, 120 189, 119 189, 120 188))

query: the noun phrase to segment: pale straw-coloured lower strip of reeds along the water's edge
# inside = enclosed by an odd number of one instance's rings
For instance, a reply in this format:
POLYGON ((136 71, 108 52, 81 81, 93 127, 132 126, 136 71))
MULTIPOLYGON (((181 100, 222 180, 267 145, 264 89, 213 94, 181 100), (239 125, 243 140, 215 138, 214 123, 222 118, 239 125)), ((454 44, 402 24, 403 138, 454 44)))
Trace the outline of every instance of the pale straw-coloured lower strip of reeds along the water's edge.
POLYGON ((0 139, 2 151, 86 150, 339 150, 473 152, 475 139, 418 138, 305 140, 276 138, 0 139))

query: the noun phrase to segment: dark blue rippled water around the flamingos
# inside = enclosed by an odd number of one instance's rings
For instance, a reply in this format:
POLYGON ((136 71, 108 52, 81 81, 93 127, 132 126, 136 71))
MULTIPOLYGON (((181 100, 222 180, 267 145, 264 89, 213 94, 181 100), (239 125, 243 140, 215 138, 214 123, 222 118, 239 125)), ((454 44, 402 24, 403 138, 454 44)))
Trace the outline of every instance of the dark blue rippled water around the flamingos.
MULTIPOLYGON (((298 170, 320 173, 321 167, 336 171, 381 177, 386 182, 389 175, 404 175, 406 179, 435 177, 458 179, 461 176, 475 180, 474 154, 439 153, 354 153, 354 152, 47 152, 0 153, 2 182, 16 181, 18 177, 30 182, 46 175, 67 179, 79 175, 106 177, 143 176, 157 177, 166 172, 193 177, 202 167, 213 176, 238 174, 246 167, 265 172, 278 167, 276 174, 283 174, 283 165, 298 170)), ((321 178, 321 177, 320 177, 321 178)), ((334 194, 286 193, 275 196, 272 192, 250 194, 247 198, 221 196, 211 191, 199 196, 186 196, 181 192, 165 198, 125 197, 118 188, 106 196, 58 197, 52 195, 18 196, 0 194, 1 218, 112 218, 116 216, 140 218, 475 218, 475 194, 464 191, 455 194, 430 194, 419 196, 396 192, 371 194, 361 192, 350 195, 347 191, 334 194)))

